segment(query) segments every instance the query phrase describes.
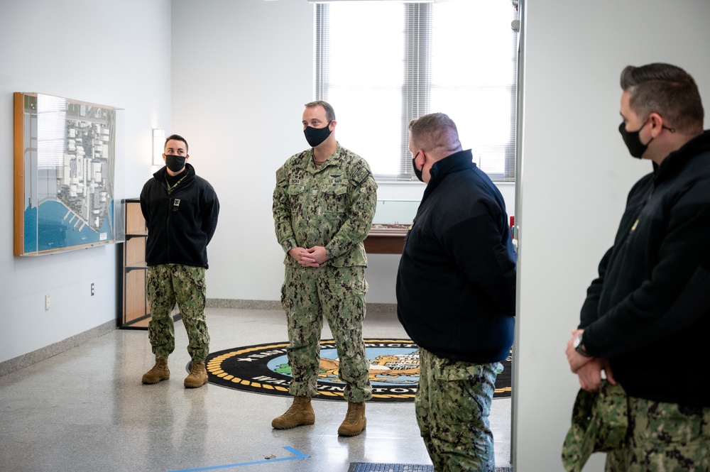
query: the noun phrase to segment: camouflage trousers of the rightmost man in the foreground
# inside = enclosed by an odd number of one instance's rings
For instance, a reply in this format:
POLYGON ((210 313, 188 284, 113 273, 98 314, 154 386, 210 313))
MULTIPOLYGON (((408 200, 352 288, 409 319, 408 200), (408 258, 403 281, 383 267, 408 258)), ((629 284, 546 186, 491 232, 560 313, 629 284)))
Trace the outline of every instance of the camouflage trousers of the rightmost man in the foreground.
POLYGON ((709 472, 710 407, 628 397, 626 444, 607 454, 605 471, 709 472))

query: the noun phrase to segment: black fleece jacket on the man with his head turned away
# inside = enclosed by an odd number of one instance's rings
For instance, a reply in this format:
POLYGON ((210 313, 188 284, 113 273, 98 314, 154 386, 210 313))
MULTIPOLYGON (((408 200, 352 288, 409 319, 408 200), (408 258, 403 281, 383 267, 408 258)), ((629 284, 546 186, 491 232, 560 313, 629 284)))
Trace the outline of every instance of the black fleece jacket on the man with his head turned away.
POLYGON ((405 240, 397 313, 407 334, 452 361, 508 357, 515 324, 515 252, 506 205, 471 150, 432 165, 405 240))

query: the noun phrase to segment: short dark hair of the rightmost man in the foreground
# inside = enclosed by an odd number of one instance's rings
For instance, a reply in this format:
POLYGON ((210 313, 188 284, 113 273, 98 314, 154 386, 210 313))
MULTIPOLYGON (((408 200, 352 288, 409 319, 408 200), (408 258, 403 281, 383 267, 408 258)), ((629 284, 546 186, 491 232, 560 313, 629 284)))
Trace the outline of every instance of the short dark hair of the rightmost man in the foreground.
POLYGON ((661 62, 628 65, 621 72, 621 89, 630 93, 629 106, 635 114, 655 112, 680 132, 702 131, 704 110, 698 86, 680 67, 661 62))

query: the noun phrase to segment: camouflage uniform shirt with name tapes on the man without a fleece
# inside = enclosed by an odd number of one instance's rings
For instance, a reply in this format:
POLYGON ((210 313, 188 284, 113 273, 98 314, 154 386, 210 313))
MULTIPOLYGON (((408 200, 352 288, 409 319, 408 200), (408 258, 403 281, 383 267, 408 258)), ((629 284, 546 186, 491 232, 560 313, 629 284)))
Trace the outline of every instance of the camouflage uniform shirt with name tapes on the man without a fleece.
POLYGON ((338 144, 320 168, 313 150, 291 156, 276 171, 273 221, 278 243, 293 248, 324 246, 327 264, 335 267, 367 265, 366 238, 377 202, 377 184, 370 166, 359 155, 338 144))

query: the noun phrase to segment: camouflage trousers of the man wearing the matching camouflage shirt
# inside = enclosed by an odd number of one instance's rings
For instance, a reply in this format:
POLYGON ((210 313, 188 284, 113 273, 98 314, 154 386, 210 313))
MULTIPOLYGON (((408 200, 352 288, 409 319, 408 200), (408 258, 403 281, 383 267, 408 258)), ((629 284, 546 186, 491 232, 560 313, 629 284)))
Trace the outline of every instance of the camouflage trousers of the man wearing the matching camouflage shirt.
POLYGON ((338 351, 338 376, 345 383, 345 399, 370 400, 370 361, 362 340, 366 292, 364 267, 286 265, 281 305, 288 322, 286 351, 293 375, 291 395, 312 397, 317 392, 320 334, 325 317, 338 351))

